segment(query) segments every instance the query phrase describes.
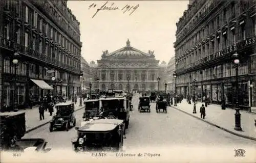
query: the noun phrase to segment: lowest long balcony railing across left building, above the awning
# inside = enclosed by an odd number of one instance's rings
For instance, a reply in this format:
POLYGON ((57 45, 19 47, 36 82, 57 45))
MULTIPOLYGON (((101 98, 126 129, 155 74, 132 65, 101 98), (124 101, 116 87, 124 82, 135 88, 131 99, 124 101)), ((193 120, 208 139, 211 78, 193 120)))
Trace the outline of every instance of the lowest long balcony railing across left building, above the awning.
POLYGON ((25 55, 27 55, 29 57, 38 59, 40 61, 44 61, 47 64, 50 63, 52 65, 59 66, 63 69, 66 69, 66 70, 69 70, 69 71, 72 71, 75 73, 80 73, 79 68, 68 65, 66 63, 62 63, 62 62, 56 60, 55 58, 52 58, 51 56, 46 55, 45 53, 40 53, 40 52, 33 50, 31 48, 28 48, 24 45, 17 44, 13 40, 7 40, 7 39, 3 39, 0 37, 0 46, 9 48, 9 49, 13 49, 13 50, 17 50, 18 52, 24 53, 25 55))

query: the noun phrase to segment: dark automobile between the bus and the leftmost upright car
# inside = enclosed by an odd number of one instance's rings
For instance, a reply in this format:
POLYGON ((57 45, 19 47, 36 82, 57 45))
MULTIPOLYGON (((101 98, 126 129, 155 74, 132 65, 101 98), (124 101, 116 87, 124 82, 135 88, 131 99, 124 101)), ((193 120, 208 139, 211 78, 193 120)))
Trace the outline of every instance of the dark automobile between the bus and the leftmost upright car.
POLYGON ((86 105, 86 107, 84 108, 81 126, 88 123, 90 120, 92 120, 92 118, 97 117, 100 114, 99 99, 85 100, 83 103, 86 105))

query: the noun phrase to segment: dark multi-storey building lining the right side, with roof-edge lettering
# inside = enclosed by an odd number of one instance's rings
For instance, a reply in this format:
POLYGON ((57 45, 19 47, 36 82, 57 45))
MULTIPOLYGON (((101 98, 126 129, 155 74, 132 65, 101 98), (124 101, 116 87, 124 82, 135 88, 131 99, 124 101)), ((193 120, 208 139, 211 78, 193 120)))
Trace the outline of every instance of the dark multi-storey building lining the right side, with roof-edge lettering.
POLYGON ((175 59, 178 93, 234 104, 237 52, 239 103, 256 106, 255 1, 193 1, 177 22, 175 59), (193 80, 195 81, 193 83, 193 80), (194 88, 193 88, 194 87, 194 88))

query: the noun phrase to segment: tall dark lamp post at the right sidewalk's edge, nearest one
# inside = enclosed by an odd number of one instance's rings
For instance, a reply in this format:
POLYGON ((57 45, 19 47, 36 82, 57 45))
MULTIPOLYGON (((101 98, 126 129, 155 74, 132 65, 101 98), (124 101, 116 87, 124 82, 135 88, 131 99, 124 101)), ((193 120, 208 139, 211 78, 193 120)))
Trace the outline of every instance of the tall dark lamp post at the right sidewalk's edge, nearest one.
POLYGON ((233 63, 234 63, 234 66, 236 67, 236 105, 235 105, 235 110, 236 110, 236 114, 234 114, 234 121, 235 121, 235 126, 234 126, 234 130, 237 130, 237 131, 242 131, 242 128, 241 128, 241 114, 239 113, 239 100, 238 100, 238 65, 239 65, 239 56, 238 56, 238 53, 234 53, 232 55, 232 59, 233 59, 233 63))

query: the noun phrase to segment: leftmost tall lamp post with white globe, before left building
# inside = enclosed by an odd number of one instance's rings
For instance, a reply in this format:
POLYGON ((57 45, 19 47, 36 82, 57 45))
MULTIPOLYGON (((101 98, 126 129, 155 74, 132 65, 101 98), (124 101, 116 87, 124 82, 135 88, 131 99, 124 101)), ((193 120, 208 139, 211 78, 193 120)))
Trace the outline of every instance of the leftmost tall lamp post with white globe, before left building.
POLYGON ((16 95, 16 85, 17 85, 17 81, 16 81, 16 78, 17 78, 17 66, 19 64, 19 54, 14 52, 13 54, 13 58, 12 58, 12 64, 14 66, 14 90, 13 90, 13 97, 12 97, 12 108, 13 108, 13 111, 14 112, 17 112, 18 111, 18 108, 17 108, 17 99, 15 98, 15 95, 16 95))

